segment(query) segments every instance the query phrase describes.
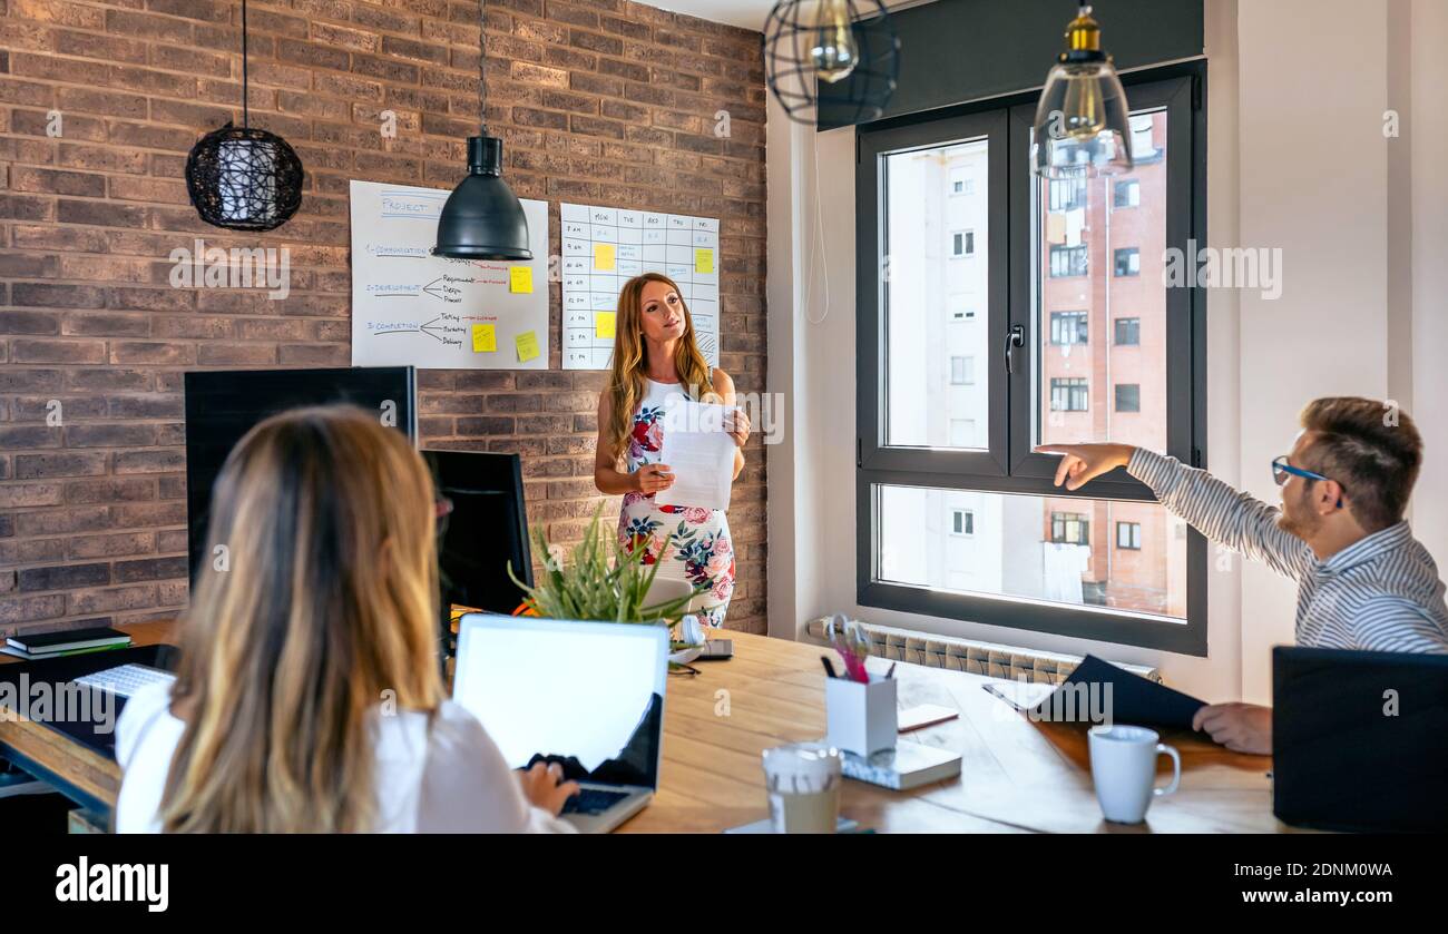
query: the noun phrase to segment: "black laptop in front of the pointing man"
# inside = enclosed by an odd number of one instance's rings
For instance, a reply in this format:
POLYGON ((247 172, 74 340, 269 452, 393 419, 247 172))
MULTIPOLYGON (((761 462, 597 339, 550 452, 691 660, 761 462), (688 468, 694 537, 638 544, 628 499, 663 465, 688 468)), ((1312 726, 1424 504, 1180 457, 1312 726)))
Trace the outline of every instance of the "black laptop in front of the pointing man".
POLYGON ((1273 649, 1273 814, 1448 830, 1448 656, 1273 649))

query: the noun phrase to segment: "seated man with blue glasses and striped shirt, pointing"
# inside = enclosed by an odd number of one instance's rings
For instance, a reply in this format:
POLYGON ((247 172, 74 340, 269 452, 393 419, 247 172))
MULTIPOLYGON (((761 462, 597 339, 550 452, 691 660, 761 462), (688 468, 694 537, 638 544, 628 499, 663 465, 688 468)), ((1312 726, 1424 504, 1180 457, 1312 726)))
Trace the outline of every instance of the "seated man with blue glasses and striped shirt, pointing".
MULTIPOLYGON (((1292 453, 1271 462, 1281 510, 1206 471, 1129 445, 1047 445, 1056 485, 1080 489, 1124 466, 1202 534, 1293 578, 1297 644, 1448 653, 1444 584, 1403 520, 1423 442, 1406 413, 1367 398, 1302 410, 1292 453)), ((1271 708, 1213 704, 1193 727, 1228 749, 1271 752, 1271 708)))

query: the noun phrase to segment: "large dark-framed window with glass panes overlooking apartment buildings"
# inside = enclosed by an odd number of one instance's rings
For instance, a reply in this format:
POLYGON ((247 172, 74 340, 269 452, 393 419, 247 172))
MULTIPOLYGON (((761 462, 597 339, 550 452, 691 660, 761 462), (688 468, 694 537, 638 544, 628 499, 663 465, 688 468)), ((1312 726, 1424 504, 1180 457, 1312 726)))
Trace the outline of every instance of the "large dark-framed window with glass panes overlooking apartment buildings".
POLYGON ((1125 177, 1034 177, 1028 98, 859 129, 862 605, 1205 655, 1205 540, 1125 471, 1069 491, 1035 453, 1202 463, 1202 295, 1161 269, 1205 239, 1205 70, 1169 71, 1125 77, 1125 177), (948 262, 964 232, 973 262, 948 262))

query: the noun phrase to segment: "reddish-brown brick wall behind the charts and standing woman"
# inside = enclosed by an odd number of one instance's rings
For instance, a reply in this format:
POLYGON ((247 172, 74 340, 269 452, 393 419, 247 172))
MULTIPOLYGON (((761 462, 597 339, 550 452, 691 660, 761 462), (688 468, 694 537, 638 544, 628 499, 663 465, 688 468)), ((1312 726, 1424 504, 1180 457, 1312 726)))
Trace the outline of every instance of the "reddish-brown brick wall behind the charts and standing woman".
MULTIPOLYGON (((198 136, 240 120, 240 1, 0 0, 0 634, 174 615, 187 599, 181 374, 348 365, 348 181, 462 175, 476 1, 256 0, 249 23, 252 123, 292 143, 307 188, 279 230, 236 236, 197 219, 182 169, 198 136), (290 248, 290 297, 171 288, 167 256, 195 236, 290 248)), ((553 253, 560 200, 721 219, 720 363, 762 392, 759 35, 626 0, 494 0, 487 49, 505 177, 550 201, 553 253)), ((423 371, 421 433, 520 452, 531 520, 575 540, 597 502, 601 374, 556 369, 559 304, 552 284, 555 369, 423 371)), ((763 631, 757 436, 747 456, 730 626, 763 631)))

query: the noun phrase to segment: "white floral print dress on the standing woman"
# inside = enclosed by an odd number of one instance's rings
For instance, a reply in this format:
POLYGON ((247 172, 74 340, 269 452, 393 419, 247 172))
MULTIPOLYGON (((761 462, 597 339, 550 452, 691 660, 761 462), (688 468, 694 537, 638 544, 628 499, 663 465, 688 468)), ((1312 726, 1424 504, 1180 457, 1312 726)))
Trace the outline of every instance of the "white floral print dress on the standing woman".
MULTIPOLYGON (((633 433, 628 436, 626 456, 630 474, 646 463, 659 463, 663 404, 673 394, 683 395, 678 384, 649 381, 649 391, 634 411, 633 433)), ((724 624, 724 613, 734 592, 734 547, 730 543, 728 520, 721 510, 656 505, 653 494, 630 492, 624 495, 624 508, 618 514, 618 542, 630 552, 646 547, 643 560, 647 565, 659 560, 668 542, 659 576, 688 581, 695 586, 710 585, 698 610, 699 621, 724 624)))

